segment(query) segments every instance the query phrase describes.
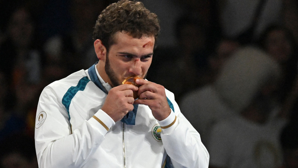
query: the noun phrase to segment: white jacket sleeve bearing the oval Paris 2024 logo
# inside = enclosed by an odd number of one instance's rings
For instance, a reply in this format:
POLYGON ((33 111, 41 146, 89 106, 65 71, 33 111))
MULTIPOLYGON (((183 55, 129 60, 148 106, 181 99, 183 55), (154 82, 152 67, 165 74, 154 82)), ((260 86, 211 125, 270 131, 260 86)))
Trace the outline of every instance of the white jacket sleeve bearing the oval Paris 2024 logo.
POLYGON ((114 121, 102 110, 71 131, 66 108, 47 86, 41 93, 35 122, 39 167, 81 167, 104 140, 114 121), (41 115, 43 114, 43 115, 41 115), (99 121, 100 120, 100 121, 99 121), (100 123, 101 122, 101 123, 100 123))

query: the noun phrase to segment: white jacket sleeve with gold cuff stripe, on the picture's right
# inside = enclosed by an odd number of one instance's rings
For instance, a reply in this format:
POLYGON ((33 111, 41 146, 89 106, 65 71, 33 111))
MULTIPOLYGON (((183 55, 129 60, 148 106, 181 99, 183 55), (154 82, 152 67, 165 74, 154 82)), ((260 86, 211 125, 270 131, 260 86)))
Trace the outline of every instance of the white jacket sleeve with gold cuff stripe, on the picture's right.
POLYGON ((173 166, 207 168, 209 153, 201 142, 200 134, 180 112, 173 96, 169 96, 169 99, 175 112, 171 109, 171 114, 158 122, 162 128, 164 148, 173 166))

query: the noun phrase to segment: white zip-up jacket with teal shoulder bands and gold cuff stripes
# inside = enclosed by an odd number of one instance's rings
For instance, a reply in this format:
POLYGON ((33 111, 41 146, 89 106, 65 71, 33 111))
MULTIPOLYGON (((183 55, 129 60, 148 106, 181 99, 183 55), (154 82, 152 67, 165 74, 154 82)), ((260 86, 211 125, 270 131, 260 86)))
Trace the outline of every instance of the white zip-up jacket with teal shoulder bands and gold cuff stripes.
POLYGON ((100 109, 107 94, 90 81, 88 70, 51 83, 36 114, 39 167, 207 168, 209 154, 199 133, 181 114, 173 93, 166 94, 174 109, 169 117, 158 121, 148 106, 139 105, 135 125, 127 125, 100 109))

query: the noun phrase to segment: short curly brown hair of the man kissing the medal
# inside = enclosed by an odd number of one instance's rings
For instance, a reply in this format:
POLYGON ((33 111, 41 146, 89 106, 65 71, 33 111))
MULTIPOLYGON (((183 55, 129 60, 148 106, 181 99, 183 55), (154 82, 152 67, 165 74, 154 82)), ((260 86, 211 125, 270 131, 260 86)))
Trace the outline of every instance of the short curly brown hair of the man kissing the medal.
POLYGON ((159 30, 157 15, 146 9, 142 2, 120 0, 110 4, 98 16, 93 40, 100 39, 108 50, 115 43, 114 34, 124 32, 134 38, 141 38, 143 35, 154 36, 156 47, 159 30))

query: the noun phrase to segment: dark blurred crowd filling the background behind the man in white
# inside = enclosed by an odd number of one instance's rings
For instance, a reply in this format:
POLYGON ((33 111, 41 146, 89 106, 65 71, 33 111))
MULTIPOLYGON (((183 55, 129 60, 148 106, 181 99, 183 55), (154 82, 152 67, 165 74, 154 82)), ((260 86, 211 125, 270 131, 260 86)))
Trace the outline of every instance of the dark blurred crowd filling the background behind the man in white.
MULTIPOLYGON (((209 167, 298 167, 298 2, 140 0, 160 20, 147 79, 175 94, 209 167)), ((38 99, 97 60, 92 32, 116 0, 0 2, 0 168, 38 167, 38 99)))

